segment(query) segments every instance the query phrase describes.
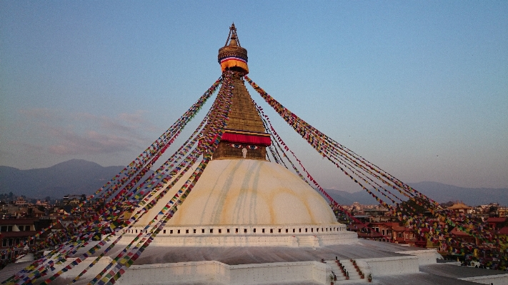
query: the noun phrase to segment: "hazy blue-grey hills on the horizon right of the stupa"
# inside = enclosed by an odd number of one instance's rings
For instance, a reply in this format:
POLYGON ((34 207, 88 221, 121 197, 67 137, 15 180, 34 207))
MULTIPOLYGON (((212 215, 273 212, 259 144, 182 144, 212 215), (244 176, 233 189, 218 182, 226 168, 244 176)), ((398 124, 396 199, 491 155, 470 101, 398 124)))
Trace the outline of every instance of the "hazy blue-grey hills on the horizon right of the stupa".
MULTIPOLYGON (((507 188, 464 188, 431 181, 409 183, 409 186, 439 203, 463 201, 470 206, 489 203, 499 203, 502 206, 508 205, 507 188)), ((326 191, 339 204, 351 205, 353 202, 377 204, 377 201, 367 191, 362 190, 354 193, 334 189, 327 189, 326 191)))

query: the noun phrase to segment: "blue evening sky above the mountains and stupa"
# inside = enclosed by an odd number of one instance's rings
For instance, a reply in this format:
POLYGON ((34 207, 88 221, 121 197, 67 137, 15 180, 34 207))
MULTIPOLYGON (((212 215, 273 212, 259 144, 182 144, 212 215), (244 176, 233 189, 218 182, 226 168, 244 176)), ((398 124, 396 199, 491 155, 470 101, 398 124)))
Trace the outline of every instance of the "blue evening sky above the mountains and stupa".
MULTIPOLYGON (((129 164, 232 22, 252 80, 393 176, 508 188, 508 1, 0 1, 0 165, 129 164)), ((249 92, 324 188, 361 190, 249 92)))

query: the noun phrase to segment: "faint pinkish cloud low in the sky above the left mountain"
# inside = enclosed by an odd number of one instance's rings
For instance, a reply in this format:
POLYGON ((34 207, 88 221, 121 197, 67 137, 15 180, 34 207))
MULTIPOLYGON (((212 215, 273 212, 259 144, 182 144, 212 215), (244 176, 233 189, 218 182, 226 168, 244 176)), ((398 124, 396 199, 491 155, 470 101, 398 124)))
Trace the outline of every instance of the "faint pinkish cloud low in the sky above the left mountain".
POLYGON ((44 146, 49 154, 113 154, 149 144, 146 139, 154 126, 144 119, 145 111, 97 116, 50 109, 20 110, 32 147, 44 146), (33 128, 36 126, 36 128, 33 128))

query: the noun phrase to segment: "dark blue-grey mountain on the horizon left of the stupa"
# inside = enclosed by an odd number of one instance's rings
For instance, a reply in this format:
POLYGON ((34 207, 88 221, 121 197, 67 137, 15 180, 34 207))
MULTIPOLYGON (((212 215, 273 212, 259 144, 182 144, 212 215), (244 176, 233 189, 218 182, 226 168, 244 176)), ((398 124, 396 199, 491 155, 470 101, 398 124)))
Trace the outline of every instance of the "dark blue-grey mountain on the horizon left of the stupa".
POLYGON ((12 192, 36 199, 92 194, 121 169, 124 166, 104 167, 82 159, 72 159, 43 169, 20 170, 0 166, 0 193, 12 192))

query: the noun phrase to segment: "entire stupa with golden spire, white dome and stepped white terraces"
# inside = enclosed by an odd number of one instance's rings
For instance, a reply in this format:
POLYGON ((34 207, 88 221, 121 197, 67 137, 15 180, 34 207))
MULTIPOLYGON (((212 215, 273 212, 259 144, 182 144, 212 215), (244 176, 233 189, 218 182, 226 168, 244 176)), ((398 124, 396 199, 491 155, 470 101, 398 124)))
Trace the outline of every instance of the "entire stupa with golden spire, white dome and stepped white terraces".
MULTIPOLYGON (((436 263, 434 249, 359 240, 315 189, 267 161, 271 140, 244 84, 247 51, 234 24, 218 59, 222 72, 234 73, 234 89, 213 160, 119 284, 329 284, 333 274, 336 284, 367 283, 369 274, 413 274, 436 263), (351 276, 342 276, 334 258, 351 276)), ((184 181, 126 236, 142 231, 184 181)))

